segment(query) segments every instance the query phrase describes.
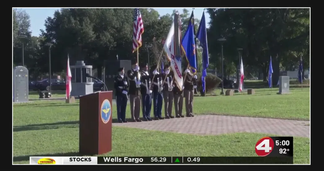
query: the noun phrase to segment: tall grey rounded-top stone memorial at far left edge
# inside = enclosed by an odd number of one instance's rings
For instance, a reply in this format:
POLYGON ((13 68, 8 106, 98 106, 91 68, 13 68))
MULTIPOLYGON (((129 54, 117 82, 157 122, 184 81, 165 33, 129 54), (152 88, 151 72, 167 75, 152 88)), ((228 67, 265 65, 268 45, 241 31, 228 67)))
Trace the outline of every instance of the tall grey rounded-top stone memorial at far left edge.
POLYGON ((13 69, 13 102, 28 101, 28 69, 16 66, 13 69))

